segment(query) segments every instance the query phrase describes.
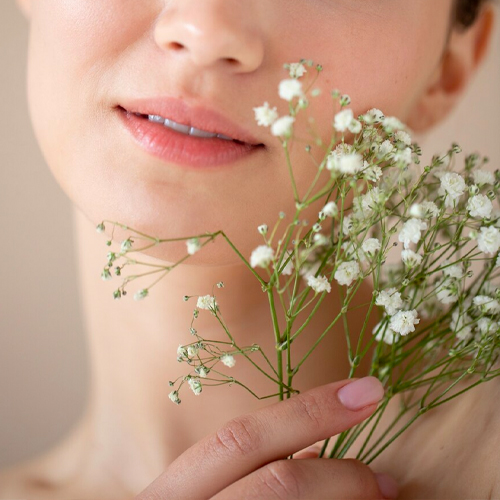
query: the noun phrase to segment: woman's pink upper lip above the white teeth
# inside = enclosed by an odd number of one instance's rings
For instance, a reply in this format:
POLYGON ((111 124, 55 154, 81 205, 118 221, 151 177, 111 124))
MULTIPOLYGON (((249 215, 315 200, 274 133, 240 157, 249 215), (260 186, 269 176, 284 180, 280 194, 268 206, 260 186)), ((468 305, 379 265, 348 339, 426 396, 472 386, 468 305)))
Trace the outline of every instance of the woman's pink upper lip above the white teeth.
POLYGON ((174 97, 129 99, 121 101, 120 106, 131 113, 157 115, 213 134, 223 134, 252 146, 263 145, 250 132, 218 111, 204 106, 190 105, 182 99, 174 97))

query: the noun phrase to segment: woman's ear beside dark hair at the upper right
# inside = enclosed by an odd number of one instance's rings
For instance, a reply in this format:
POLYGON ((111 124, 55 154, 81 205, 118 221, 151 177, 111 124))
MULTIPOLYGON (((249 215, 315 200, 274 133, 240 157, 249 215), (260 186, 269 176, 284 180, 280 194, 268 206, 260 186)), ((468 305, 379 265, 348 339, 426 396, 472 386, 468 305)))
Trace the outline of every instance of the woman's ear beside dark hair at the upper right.
POLYGON ((429 85, 406 119, 413 131, 426 132, 442 121, 460 101, 488 51, 494 19, 493 5, 487 2, 471 27, 452 31, 429 85))

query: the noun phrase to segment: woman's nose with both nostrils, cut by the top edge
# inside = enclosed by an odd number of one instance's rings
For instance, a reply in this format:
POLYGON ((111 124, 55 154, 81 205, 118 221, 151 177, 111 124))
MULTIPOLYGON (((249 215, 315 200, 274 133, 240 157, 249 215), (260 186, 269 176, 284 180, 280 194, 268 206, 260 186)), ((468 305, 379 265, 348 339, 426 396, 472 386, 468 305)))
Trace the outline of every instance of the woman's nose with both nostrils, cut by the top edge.
POLYGON ((162 50, 200 67, 253 71, 261 64, 264 50, 249 3, 173 0, 157 21, 155 41, 162 50))

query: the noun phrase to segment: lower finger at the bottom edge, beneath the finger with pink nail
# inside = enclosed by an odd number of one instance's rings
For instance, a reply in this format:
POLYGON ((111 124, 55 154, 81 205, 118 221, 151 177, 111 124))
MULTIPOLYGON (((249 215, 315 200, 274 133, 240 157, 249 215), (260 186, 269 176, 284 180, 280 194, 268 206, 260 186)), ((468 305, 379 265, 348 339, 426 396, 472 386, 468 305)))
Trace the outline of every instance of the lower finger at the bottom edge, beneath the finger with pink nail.
MULTIPOLYGON (((368 465, 355 459, 278 460, 224 488, 211 500, 380 500, 368 465)), ((396 498, 396 497, 390 497, 396 498)))

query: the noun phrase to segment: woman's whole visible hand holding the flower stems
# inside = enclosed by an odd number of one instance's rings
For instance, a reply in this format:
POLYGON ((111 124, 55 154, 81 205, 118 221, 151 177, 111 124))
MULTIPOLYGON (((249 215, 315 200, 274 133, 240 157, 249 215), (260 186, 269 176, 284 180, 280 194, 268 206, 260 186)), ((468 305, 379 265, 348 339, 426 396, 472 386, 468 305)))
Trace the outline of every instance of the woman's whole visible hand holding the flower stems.
POLYGON ((347 379, 233 418, 182 453, 136 500, 396 498, 390 476, 359 460, 318 460, 305 450, 300 460, 286 458, 362 422, 383 396, 375 377, 347 379))

